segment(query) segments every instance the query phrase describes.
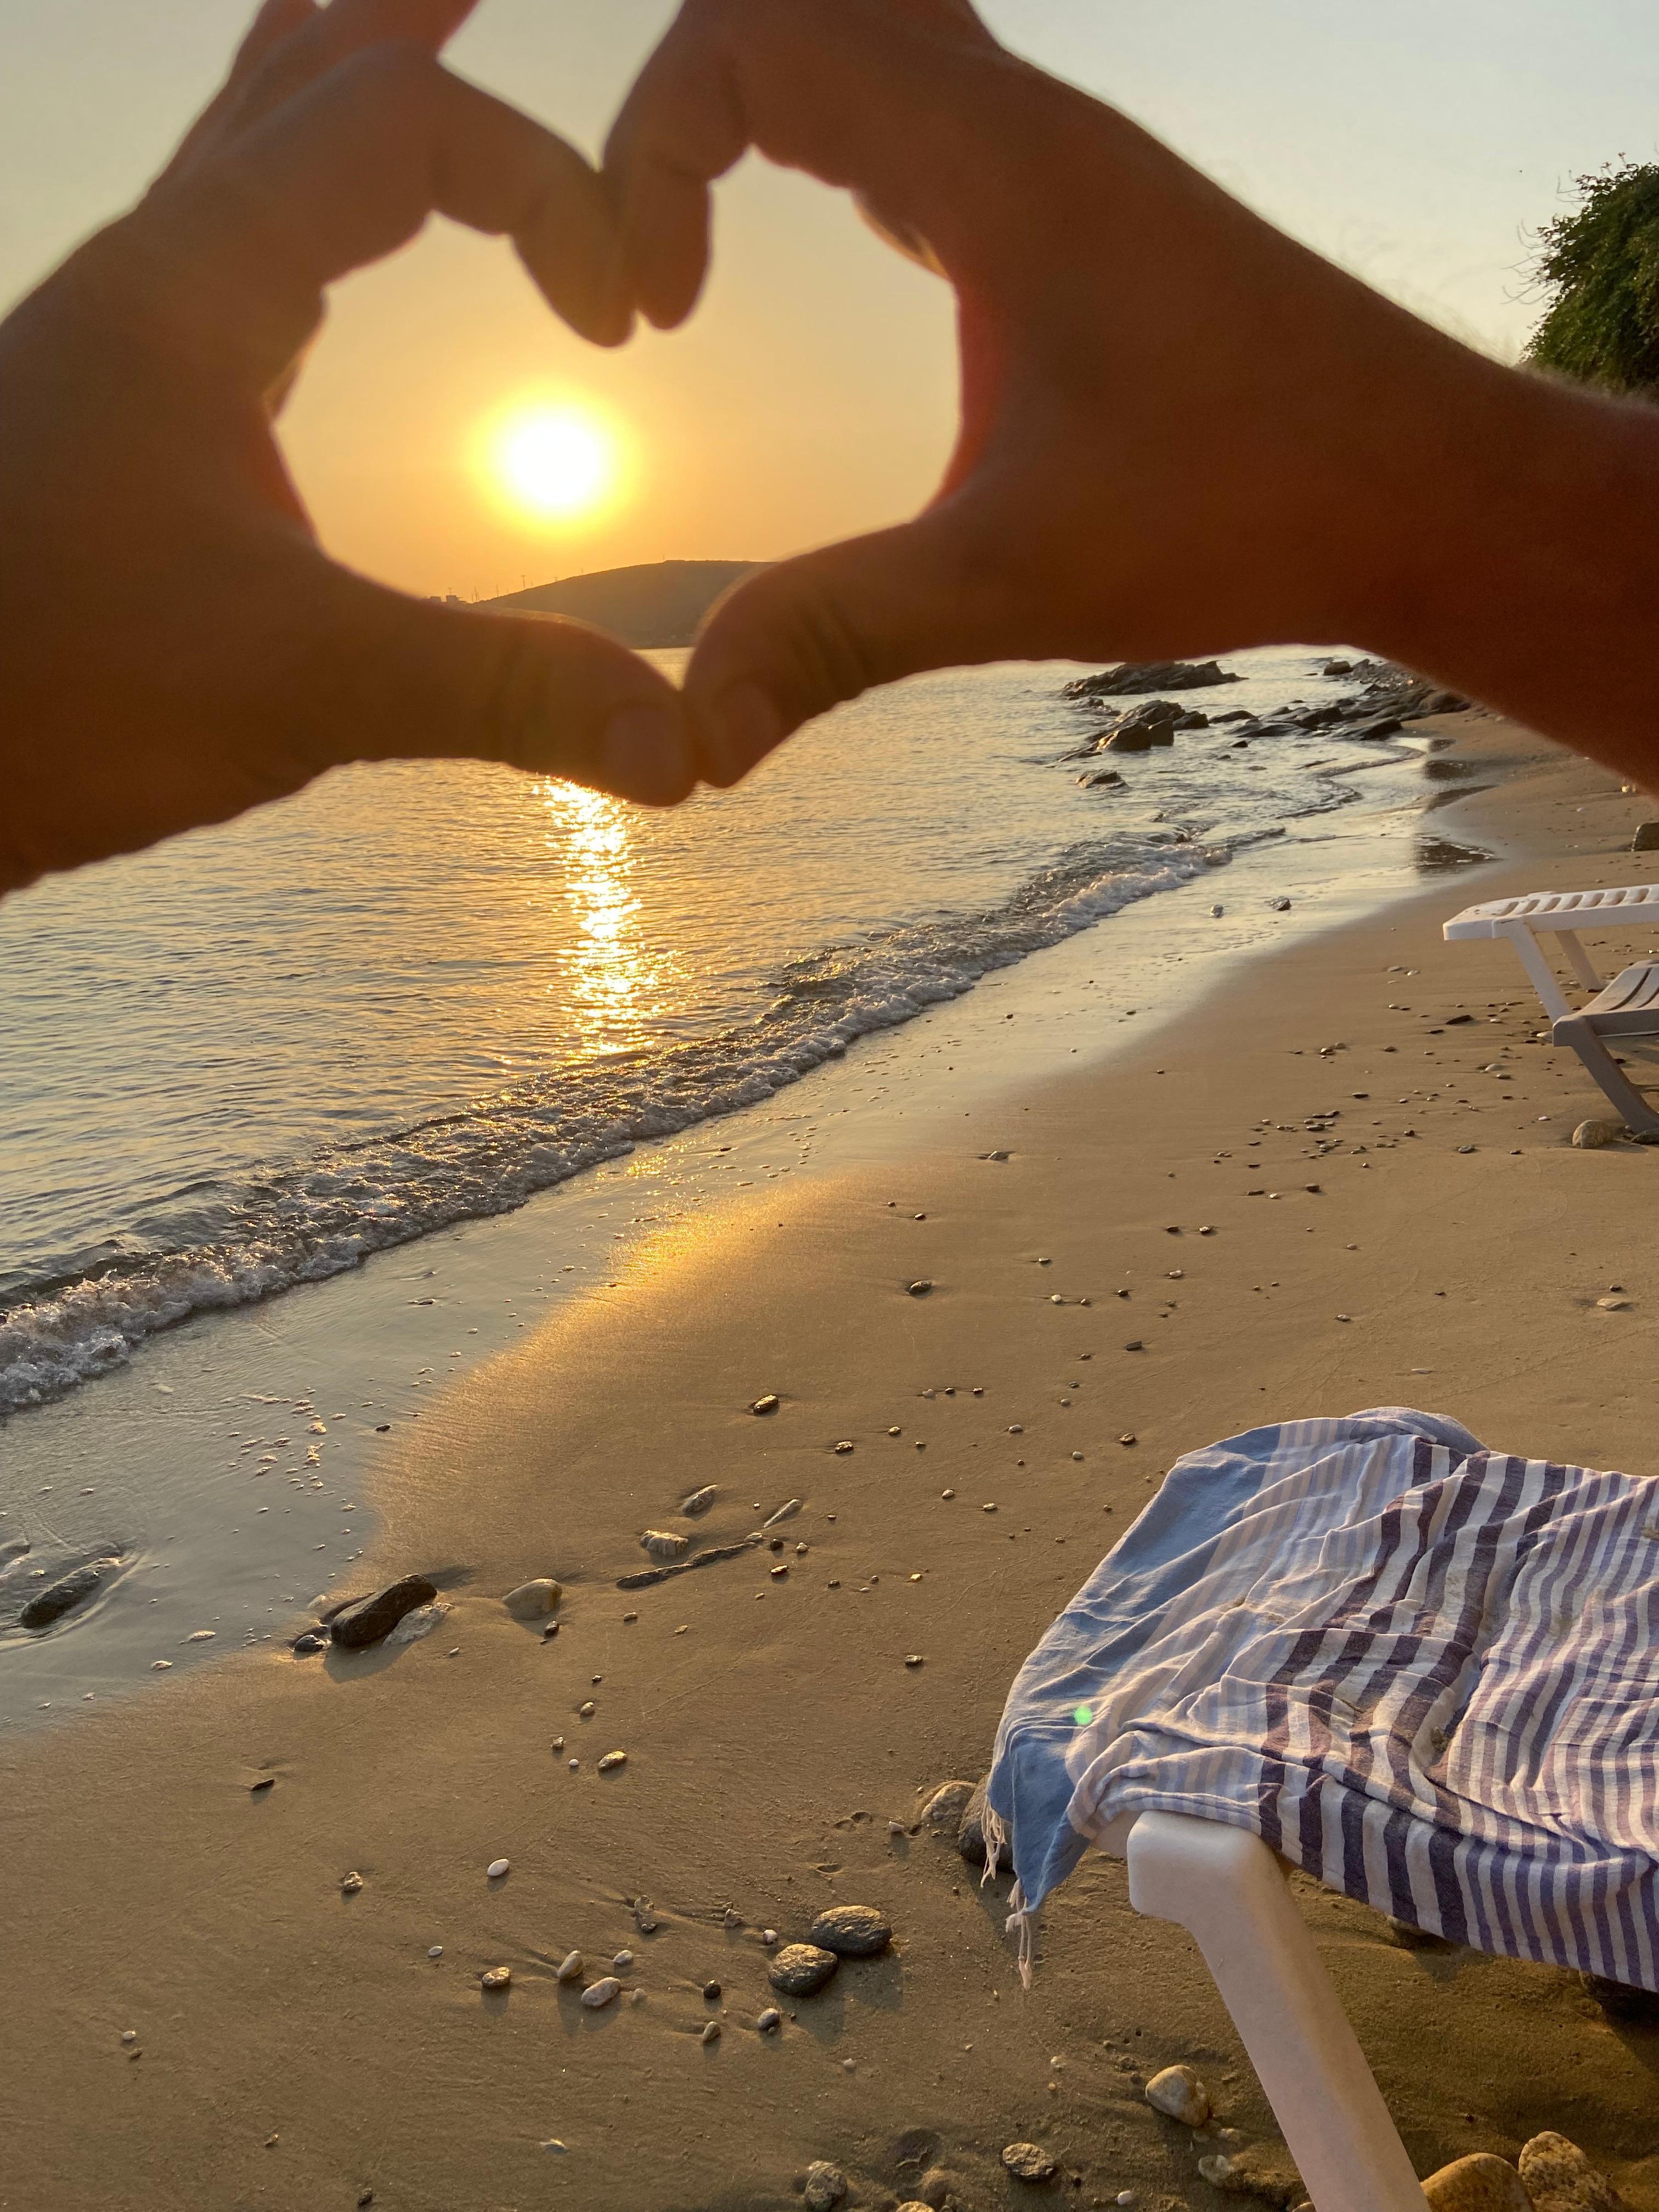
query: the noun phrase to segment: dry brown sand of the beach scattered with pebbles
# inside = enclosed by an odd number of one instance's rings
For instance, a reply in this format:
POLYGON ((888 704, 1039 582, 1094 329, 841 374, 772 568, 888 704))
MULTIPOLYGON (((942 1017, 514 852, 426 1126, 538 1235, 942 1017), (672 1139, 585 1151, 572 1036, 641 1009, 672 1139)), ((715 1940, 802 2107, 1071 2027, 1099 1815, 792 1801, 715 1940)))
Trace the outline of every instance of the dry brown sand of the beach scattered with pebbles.
MULTIPOLYGON (((787 2208, 827 2157, 858 2205, 947 2172, 993 2212, 1042 2201, 998 2163, 1035 2139, 1066 2203, 1217 2212, 1141 2081, 1188 2059, 1225 2124, 1272 2121, 1188 1938, 1093 1860, 1022 1993, 1000 1896, 887 1823, 982 1772, 1015 1666, 1190 1447, 1418 1402, 1498 1447, 1655 1464, 1659 1152, 1573 1150, 1599 1099, 1526 1042, 1513 953, 1440 942, 1473 896, 1644 880, 1644 807, 1504 726, 1447 730, 1531 761, 1440 816, 1502 872, 1239 971, 1133 1057, 975 1113, 958 1150, 768 1188, 394 1436, 361 1588, 431 1573, 434 1637, 237 1657, 7 1747, 0 2205, 787 2208), (1626 1312, 1597 1310, 1610 1283, 1626 1312), (619 1593, 637 1533, 706 1482, 708 1542, 805 1500, 781 1559, 619 1593), (529 1575, 568 1588, 555 1641, 498 1604, 529 1575), (599 1776, 608 1750, 628 1763, 599 1776), (759 1931, 832 1900, 883 1907, 894 1953, 759 2035, 759 1931), (595 1973, 622 1947, 639 2002, 555 1984, 566 1951, 595 1973)), ((1575 1975, 1405 1951, 1298 1896, 1420 2172, 1559 2128, 1659 2208, 1659 2033, 1575 1975)))

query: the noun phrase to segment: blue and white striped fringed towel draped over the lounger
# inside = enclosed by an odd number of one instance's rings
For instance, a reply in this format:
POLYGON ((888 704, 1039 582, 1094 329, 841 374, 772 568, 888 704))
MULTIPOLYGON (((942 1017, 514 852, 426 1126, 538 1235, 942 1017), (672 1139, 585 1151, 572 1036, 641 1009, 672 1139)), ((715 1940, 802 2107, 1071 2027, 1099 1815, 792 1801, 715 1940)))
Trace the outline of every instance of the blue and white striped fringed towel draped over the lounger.
POLYGON ((1020 1670, 1035 1909, 1126 1812, 1254 1829, 1436 1936, 1659 1991, 1659 1482, 1433 1413, 1188 1453, 1020 1670))

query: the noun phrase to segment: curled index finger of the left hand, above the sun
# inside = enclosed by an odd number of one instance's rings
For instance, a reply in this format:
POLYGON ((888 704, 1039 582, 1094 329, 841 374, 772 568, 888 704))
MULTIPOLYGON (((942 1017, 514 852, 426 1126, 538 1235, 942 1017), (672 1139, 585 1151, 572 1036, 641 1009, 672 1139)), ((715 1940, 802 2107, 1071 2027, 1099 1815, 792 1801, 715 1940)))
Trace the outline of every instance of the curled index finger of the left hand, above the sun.
POLYGON ((133 221, 192 343, 265 389, 314 327, 323 288, 407 243, 431 210, 511 234, 575 330, 626 336, 595 173, 411 44, 343 62, 133 221))

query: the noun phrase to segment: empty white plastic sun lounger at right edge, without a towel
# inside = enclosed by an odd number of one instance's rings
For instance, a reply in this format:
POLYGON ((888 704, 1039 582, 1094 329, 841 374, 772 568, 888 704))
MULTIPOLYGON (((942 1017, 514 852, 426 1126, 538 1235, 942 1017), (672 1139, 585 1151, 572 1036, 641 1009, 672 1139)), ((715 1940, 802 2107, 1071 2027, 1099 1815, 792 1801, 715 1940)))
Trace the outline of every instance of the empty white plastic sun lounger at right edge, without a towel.
POLYGON ((1551 1018, 1555 1044, 1571 1044, 1597 1079, 1610 1106, 1639 1135, 1659 1135, 1659 1113, 1637 1091, 1604 1037, 1659 1035, 1659 960, 1637 960, 1604 984, 1579 945, 1579 929, 1606 929, 1621 922, 1659 927, 1659 883, 1632 883, 1613 891, 1528 891, 1524 898, 1493 898, 1484 907, 1464 907, 1442 929, 1458 938, 1509 938, 1533 989, 1551 1018), (1595 995, 1584 1006, 1568 1006, 1540 936, 1559 938, 1568 967, 1595 995))

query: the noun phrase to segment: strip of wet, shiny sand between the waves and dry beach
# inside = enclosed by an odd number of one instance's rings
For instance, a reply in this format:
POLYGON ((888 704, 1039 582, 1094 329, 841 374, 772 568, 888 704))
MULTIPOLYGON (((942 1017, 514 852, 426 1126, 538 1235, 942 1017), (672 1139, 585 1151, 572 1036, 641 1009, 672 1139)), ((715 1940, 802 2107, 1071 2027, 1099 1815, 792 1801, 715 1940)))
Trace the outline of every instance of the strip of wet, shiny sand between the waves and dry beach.
MULTIPOLYGON (((1433 812, 1471 774, 1511 765, 1515 748, 1500 739, 1495 768, 1462 768, 1458 741, 1480 726, 1420 723, 1411 745, 1343 772, 1360 781, 1358 803, 1294 818, 1285 836, 993 969, 752 1106, 327 1281, 197 1314, 124 1367, 0 1422, 0 1544, 38 1546, 13 1590, 35 1559, 53 1577, 82 1559, 124 1562, 51 1635, 0 1630, 0 1730, 177 1688, 157 1681, 159 1659, 199 1672, 294 1635, 307 1601, 343 1590, 363 1546, 387 1517, 396 1526, 396 1453, 387 1467, 383 1438, 571 1298, 657 1265, 664 1232, 703 1223, 706 1234, 745 1183, 896 1161, 942 1115, 1135 1051, 1137 1029, 1181 1020, 1287 936, 1416 896, 1425 872, 1460 852, 1427 827, 1433 812), (1290 914, 1272 911, 1274 894, 1290 894, 1290 914), (69 1480, 73 1469, 86 1480, 69 1480)), ((1491 741, 1475 750, 1493 754, 1491 741)))

